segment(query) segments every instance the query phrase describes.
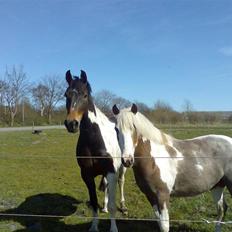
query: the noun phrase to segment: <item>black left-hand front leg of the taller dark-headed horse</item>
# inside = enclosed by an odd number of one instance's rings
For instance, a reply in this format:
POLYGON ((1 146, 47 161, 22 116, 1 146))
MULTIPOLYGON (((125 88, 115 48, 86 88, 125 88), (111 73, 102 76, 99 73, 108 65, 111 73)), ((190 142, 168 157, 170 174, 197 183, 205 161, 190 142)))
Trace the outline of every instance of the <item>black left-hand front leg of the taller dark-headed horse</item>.
POLYGON ((91 175, 91 172, 81 170, 81 177, 84 180, 88 191, 90 204, 93 210, 93 221, 92 225, 89 229, 89 232, 97 232, 98 231, 98 201, 97 201, 97 193, 96 193, 96 185, 94 181, 94 176, 91 175))

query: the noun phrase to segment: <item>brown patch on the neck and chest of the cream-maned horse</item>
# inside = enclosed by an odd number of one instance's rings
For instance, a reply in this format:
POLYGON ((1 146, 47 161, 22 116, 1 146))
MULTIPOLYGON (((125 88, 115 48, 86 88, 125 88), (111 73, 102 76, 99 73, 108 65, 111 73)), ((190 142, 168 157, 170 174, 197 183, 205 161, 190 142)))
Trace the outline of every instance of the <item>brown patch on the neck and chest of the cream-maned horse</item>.
POLYGON ((137 185, 146 195, 150 204, 158 205, 159 210, 163 209, 164 203, 168 206, 169 190, 167 184, 161 180, 160 170, 151 156, 149 140, 138 139, 133 171, 137 185))

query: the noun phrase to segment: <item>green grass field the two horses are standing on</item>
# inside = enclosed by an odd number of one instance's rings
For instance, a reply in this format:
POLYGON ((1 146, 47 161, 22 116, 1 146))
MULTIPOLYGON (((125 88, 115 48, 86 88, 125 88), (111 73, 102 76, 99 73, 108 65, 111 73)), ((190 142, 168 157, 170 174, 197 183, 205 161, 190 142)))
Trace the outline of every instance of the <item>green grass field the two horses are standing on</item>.
MULTIPOLYGON (((177 138, 203 134, 224 134, 232 137, 229 127, 164 128, 177 138)), ((82 232, 88 231, 91 216, 87 189, 80 178, 75 159, 77 135, 66 130, 45 130, 40 135, 26 132, 0 133, 0 213, 59 215, 60 218, 0 216, 0 231, 9 232, 82 232)), ((97 181, 99 182, 99 179, 97 181)), ((151 218, 152 209, 135 184, 132 170, 126 174, 126 204, 129 218, 151 218)), ((99 192, 102 204, 103 193, 99 192)), ((225 220, 232 220, 232 200, 226 193, 229 209, 225 220)), ((119 201, 117 201, 119 205, 119 201)), ((100 213, 108 218, 107 214, 100 213)), ((126 217, 117 212, 117 217, 126 217)), ((195 198, 171 200, 173 220, 216 219, 216 209, 209 193, 195 198)), ((120 232, 159 231, 156 222, 118 220, 120 232)), ((100 231, 108 231, 109 221, 101 220, 100 231)), ((214 225, 171 222, 170 231, 210 232, 214 225)), ((232 231, 232 224, 222 231, 232 231)))

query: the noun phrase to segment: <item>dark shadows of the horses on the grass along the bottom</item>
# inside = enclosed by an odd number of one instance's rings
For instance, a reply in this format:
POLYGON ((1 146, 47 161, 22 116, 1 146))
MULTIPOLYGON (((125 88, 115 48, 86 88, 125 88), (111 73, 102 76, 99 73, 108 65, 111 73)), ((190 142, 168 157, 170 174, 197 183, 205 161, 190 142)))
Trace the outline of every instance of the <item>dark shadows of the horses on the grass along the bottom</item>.
MULTIPOLYGON (((61 218, 37 218, 37 217, 17 217, 17 216, 2 216, 1 221, 15 221, 20 223, 24 229, 14 230, 15 232, 86 232, 90 227, 90 222, 77 224, 65 224, 63 216, 73 215, 78 208, 78 205, 83 202, 78 201, 70 196, 61 194, 38 194, 26 198, 17 208, 2 211, 5 214, 31 214, 31 215, 57 215, 61 218)), ((123 221, 117 220, 118 229, 120 232, 152 232, 159 231, 156 222, 144 221, 123 221)), ((99 231, 109 231, 110 221, 100 220, 99 231)), ((175 226, 170 228, 170 231, 175 232, 195 232, 185 225, 175 226)))

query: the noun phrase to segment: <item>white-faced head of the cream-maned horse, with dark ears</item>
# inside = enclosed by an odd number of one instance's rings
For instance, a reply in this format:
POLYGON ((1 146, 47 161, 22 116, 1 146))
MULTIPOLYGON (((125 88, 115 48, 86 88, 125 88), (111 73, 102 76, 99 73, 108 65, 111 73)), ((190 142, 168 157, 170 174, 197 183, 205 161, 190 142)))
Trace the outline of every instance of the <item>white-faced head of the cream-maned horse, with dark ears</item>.
POLYGON ((122 164, 131 167, 134 164, 134 152, 138 142, 138 135, 135 127, 137 106, 119 110, 116 105, 112 108, 117 119, 118 140, 122 151, 122 164))

